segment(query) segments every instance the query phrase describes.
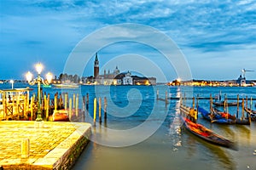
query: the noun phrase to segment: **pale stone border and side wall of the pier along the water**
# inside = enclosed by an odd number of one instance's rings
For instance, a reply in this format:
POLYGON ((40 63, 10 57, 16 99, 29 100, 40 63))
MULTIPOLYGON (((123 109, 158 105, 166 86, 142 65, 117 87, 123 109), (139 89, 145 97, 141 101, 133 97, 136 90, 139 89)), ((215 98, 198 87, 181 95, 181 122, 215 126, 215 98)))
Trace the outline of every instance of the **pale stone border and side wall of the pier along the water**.
POLYGON ((84 148, 90 142, 90 123, 73 122, 75 130, 67 139, 64 139, 47 155, 32 163, 21 163, 13 165, 0 165, 1 169, 71 169, 77 161, 84 148))

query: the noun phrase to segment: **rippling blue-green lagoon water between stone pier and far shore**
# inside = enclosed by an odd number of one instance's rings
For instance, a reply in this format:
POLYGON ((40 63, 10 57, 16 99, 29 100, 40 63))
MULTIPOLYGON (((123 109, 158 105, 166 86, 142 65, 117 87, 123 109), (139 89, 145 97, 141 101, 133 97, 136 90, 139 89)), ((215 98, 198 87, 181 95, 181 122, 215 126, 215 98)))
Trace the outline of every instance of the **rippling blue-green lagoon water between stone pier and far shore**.
MULTIPOLYGON (((26 85, 24 85, 26 86, 26 85)), ((36 87, 35 93, 36 93, 36 87)), ((74 165, 79 169, 256 169, 256 122, 250 126, 211 124, 199 115, 198 122, 214 132, 235 141, 239 150, 229 150, 196 138, 181 127, 178 118, 179 101, 156 101, 156 90, 160 97, 168 95, 209 97, 227 94, 228 98, 256 98, 256 88, 179 88, 166 86, 82 86, 64 90, 69 94, 79 93, 80 97, 90 94, 89 111, 85 121, 92 122, 93 104, 96 97, 108 97, 108 121, 92 128, 92 140, 74 165), (141 125, 144 127, 140 127, 141 125)), ((60 89, 45 88, 52 97, 60 89)), ((81 99, 80 99, 81 100, 81 99)), ((191 105, 191 100, 186 101, 191 105)), ((253 109, 256 101, 253 100, 253 109)), ((79 104, 81 105, 81 104, 79 104)), ((200 100, 199 105, 209 108, 208 100, 200 100)), ((220 108, 221 109, 221 108, 220 108)), ((236 106, 229 107, 231 114, 236 106)), ((241 115, 241 108, 240 108, 241 115)))

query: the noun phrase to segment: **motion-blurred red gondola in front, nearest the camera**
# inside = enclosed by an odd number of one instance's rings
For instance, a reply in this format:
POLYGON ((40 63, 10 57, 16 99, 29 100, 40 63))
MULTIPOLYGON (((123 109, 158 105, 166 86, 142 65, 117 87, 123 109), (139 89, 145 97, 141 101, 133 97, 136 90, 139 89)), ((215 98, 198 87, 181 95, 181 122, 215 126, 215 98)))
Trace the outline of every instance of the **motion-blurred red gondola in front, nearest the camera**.
POLYGON ((193 108, 186 106, 180 106, 181 119, 183 121, 183 126, 190 132, 195 134, 195 136, 204 139, 211 144, 217 144, 226 148, 236 150, 236 144, 231 142, 229 139, 225 139, 223 136, 214 133, 212 130, 204 127, 203 125, 190 120, 190 112, 197 112, 193 108))

